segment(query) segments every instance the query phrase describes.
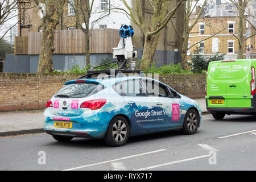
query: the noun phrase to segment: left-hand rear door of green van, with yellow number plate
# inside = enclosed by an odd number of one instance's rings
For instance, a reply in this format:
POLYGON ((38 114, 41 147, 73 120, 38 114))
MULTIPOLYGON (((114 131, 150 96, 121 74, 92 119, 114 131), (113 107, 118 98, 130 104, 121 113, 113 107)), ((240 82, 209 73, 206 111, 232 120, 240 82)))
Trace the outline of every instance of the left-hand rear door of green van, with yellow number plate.
POLYGON ((226 78, 230 65, 221 61, 210 62, 207 75, 208 107, 227 107, 226 78))

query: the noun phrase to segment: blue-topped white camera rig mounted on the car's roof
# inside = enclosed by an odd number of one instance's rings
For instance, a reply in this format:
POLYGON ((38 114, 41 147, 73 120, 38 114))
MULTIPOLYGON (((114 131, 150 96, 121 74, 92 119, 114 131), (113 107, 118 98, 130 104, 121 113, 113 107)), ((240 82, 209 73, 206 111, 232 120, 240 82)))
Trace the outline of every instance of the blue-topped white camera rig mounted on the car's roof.
POLYGON ((79 79, 84 77, 92 77, 92 75, 99 75, 100 73, 109 74, 110 69, 102 71, 94 71, 94 69, 112 63, 115 64, 111 68, 113 68, 115 65, 118 65, 118 69, 115 69, 115 73, 139 73, 139 75, 143 73, 142 71, 135 70, 136 61, 134 60, 134 58, 137 57, 137 51, 134 51, 133 42, 131 41, 131 38, 133 38, 134 35, 133 27, 124 24, 119 29, 119 35, 121 36, 121 39, 119 40, 118 46, 113 47, 113 59, 117 60, 99 65, 97 67, 93 67, 93 69, 90 69, 86 75, 80 77, 79 79), (129 68, 127 68, 127 64, 129 64, 129 68))

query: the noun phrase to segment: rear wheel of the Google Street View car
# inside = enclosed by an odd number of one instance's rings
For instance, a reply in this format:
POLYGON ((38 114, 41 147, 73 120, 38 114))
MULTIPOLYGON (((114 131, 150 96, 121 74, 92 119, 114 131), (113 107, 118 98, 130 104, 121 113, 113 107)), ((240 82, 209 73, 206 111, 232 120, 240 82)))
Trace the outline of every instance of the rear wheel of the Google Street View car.
POLYGON ((104 141, 108 146, 119 147, 125 145, 129 136, 129 123, 124 117, 119 115, 110 121, 104 141))

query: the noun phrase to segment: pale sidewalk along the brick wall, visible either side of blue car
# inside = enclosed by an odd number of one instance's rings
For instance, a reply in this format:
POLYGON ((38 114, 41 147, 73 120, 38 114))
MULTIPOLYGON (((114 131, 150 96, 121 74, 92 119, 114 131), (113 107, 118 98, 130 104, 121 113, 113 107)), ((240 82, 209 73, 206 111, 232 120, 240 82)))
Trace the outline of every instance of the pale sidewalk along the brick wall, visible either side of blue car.
MULTIPOLYGON (((207 113, 205 98, 195 99, 203 114, 207 113)), ((44 110, 0 112, 0 137, 43 132, 44 110)))

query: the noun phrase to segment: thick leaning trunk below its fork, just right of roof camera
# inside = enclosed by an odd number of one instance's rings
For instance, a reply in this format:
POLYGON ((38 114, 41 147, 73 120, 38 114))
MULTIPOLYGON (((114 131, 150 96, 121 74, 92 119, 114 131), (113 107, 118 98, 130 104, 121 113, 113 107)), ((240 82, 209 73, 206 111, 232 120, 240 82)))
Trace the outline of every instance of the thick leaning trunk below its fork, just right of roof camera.
POLYGON ((141 70, 150 68, 153 57, 155 55, 156 47, 158 46, 160 34, 151 35, 148 38, 145 38, 144 41, 144 48, 143 48, 143 55, 142 55, 142 63, 141 63, 141 70))

